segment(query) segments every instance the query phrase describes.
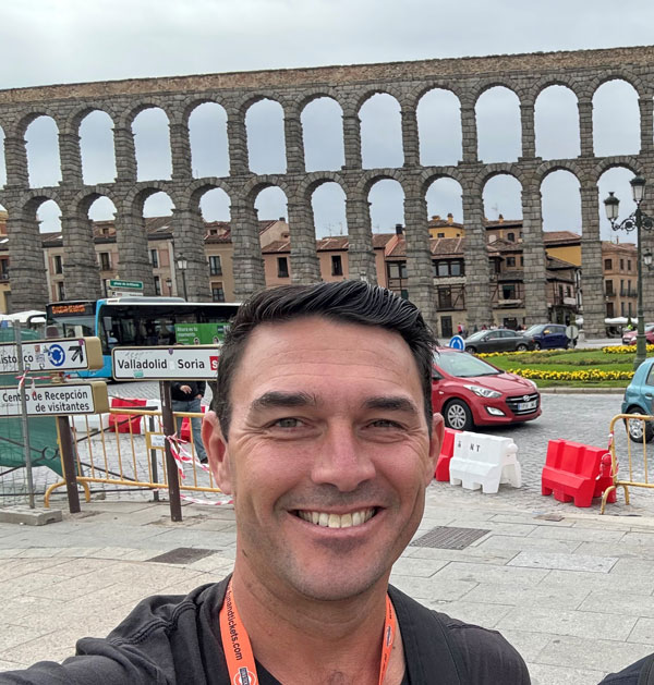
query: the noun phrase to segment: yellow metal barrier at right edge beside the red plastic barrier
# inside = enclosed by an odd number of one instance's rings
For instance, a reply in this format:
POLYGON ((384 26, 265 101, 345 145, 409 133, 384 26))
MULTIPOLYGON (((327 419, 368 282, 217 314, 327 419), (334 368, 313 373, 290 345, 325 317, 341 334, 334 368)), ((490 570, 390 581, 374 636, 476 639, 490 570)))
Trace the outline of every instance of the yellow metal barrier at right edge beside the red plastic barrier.
POLYGON ((613 485, 609 486, 602 496, 602 510, 604 513, 606 502, 611 492, 619 487, 625 491, 625 503, 629 504, 629 488, 654 488, 654 482, 650 481, 650 467, 647 464, 647 443, 654 438, 654 416, 643 414, 618 414, 614 416, 609 428, 609 452, 610 452, 610 475, 613 485), (627 428, 627 465, 620 463, 616 454, 615 426, 622 421, 627 428), (632 447, 633 445, 633 447, 632 447), (628 470, 628 478, 620 477, 622 472, 628 470))

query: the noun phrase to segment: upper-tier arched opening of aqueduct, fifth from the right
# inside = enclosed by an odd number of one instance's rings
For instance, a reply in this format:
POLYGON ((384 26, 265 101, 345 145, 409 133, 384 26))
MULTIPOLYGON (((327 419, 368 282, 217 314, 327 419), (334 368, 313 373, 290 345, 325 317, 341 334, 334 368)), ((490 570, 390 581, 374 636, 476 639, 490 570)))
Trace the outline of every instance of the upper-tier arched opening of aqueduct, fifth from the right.
POLYGON ((396 98, 377 93, 362 105, 359 117, 363 168, 401 167, 404 163, 402 119, 396 98))

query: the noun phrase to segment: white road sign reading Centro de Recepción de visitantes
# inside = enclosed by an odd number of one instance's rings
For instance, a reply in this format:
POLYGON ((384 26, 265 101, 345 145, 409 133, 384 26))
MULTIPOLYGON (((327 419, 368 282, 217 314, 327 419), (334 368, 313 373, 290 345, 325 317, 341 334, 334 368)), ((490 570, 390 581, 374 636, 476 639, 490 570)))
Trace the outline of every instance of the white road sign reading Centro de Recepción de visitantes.
MULTIPOLYGON (((27 416, 68 416, 100 414, 109 411, 107 383, 60 383, 25 389, 27 416)), ((21 415, 21 390, 0 388, 0 418, 21 415)))

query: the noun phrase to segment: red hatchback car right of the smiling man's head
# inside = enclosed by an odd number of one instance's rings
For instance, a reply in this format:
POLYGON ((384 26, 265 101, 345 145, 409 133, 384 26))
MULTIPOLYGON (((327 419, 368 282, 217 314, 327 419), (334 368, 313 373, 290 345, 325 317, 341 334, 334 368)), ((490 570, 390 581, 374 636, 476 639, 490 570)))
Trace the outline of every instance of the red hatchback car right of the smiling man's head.
POLYGON ((450 347, 434 353, 434 412, 448 428, 472 430, 531 421, 541 416, 541 393, 531 380, 450 347))

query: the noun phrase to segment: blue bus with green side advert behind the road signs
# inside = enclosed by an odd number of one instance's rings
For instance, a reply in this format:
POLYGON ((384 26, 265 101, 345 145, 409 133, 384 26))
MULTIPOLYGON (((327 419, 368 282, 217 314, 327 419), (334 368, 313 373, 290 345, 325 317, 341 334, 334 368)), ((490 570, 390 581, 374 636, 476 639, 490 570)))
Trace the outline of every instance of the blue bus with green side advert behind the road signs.
POLYGON ((96 335, 102 345, 101 369, 81 378, 111 378, 111 350, 175 344, 219 344, 238 304, 186 302, 182 297, 108 297, 46 305, 47 338, 96 335))

